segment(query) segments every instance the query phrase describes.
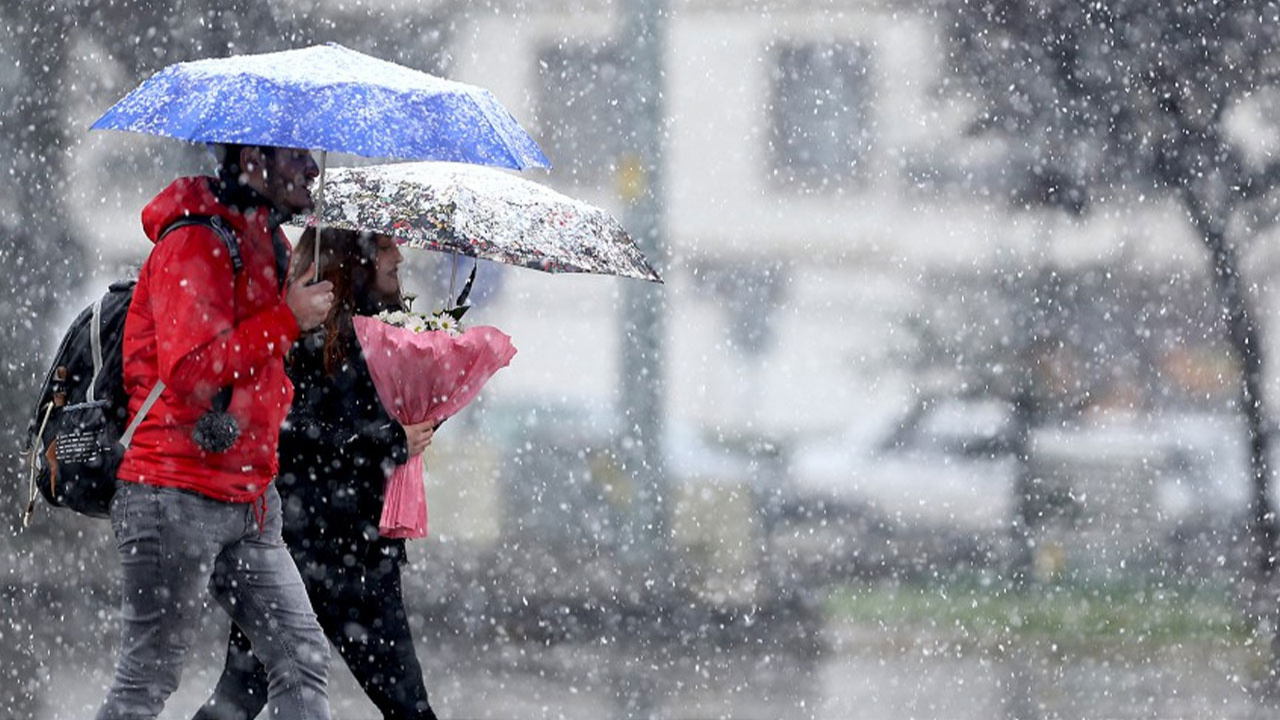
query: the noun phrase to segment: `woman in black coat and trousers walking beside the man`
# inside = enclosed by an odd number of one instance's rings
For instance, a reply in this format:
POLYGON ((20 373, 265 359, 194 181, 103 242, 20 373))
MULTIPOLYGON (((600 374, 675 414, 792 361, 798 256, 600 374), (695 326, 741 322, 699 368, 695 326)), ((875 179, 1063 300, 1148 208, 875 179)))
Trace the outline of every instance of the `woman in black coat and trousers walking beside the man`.
MULTIPOLYGON (((403 258, 393 238, 372 233, 325 229, 320 247, 334 309, 294 345, 288 365, 294 396, 276 480, 284 542, 329 642, 383 716, 434 720, 404 612, 404 541, 378 534, 388 474, 426 448, 433 428, 402 427, 387 414, 352 324, 353 315, 404 309, 403 258)), ((314 252, 308 229, 294 252, 294 277, 314 252)), ((256 717, 266 687, 265 667, 233 626, 221 678, 196 719, 256 717)))

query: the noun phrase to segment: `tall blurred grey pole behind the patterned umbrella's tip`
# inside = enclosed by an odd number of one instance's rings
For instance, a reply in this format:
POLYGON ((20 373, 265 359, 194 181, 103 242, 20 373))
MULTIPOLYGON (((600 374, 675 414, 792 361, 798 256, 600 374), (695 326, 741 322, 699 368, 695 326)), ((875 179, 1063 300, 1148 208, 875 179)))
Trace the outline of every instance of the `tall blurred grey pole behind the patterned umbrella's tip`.
MULTIPOLYGON (((630 152, 618 159, 626 201, 622 224, 650 264, 666 269, 663 250, 663 26, 664 0, 622 0, 618 51, 627 68, 622 83, 623 129, 630 152)), ((627 537, 634 553, 659 562, 667 553, 667 468, 663 450, 664 287, 622 281, 620 406, 622 460, 635 482, 627 537)), ((662 566, 662 565, 657 565, 662 566)))

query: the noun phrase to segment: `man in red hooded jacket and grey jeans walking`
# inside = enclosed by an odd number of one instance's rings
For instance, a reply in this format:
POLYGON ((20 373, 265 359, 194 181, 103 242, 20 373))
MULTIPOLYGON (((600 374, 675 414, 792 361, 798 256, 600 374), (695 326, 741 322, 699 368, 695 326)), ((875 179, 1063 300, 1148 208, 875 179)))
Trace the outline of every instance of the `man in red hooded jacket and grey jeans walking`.
POLYGON ((291 249, 279 224, 311 208, 307 186, 319 169, 306 150, 219 151, 218 178, 179 178, 142 211, 155 247, 124 327, 131 414, 161 389, 125 451, 111 502, 123 639, 99 720, 160 714, 206 587, 266 665, 273 716, 329 717, 329 647, 280 539, 273 483, 293 397, 284 354, 333 304, 332 283, 284 284, 291 249), (233 232, 239 268, 207 224, 174 227, 189 215, 233 232), (238 429, 223 450, 192 437, 219 396, 218 410, 238 429))

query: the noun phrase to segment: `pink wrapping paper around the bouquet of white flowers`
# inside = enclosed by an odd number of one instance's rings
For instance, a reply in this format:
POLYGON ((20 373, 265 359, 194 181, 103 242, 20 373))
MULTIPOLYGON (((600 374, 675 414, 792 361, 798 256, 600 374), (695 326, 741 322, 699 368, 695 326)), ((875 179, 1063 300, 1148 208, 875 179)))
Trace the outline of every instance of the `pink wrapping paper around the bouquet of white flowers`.
MULTIPOLYGON (((376 318, 356 316, 353 322, 378 397, 402 425, 444 421, 475 400, 489 378, 516 355, 511 338, 497 328, 476 327, 452 334, 413 332, 376 318)), ((424 477, 421 455, 392 471, 378 523, 383 537, 426 537, 424 477)))

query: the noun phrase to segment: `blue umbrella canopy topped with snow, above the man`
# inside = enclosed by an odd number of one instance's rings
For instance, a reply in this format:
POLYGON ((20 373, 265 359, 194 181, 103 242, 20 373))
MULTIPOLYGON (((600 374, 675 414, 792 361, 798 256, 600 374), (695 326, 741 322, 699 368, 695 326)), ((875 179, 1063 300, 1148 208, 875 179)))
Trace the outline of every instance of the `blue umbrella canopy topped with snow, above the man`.
POLYGON ((169 65, 92 129, 365 158, 550 167, 488 90, 333 42, 169 65))

